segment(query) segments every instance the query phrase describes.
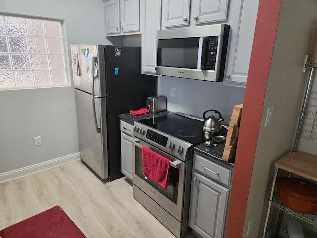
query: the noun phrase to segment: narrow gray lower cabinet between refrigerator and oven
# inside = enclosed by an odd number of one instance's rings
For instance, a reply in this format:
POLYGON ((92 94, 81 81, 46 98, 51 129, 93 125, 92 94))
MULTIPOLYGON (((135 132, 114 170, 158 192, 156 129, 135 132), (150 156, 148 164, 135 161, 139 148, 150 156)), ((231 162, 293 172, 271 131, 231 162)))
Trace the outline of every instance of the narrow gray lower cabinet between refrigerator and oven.
POLYGON ((133 125, 120 122, 121 124, 121 172, 132 180, 132 128, 133 125))

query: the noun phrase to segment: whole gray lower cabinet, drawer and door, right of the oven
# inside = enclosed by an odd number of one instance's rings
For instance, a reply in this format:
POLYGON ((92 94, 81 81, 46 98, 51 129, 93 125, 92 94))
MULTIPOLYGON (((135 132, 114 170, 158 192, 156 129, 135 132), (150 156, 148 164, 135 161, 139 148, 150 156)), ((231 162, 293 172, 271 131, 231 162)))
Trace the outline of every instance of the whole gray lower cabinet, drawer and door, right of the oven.
POLYGON ((232 170, 194 154, 189 226, 203 238, 224 237, 231 174, 232 170))

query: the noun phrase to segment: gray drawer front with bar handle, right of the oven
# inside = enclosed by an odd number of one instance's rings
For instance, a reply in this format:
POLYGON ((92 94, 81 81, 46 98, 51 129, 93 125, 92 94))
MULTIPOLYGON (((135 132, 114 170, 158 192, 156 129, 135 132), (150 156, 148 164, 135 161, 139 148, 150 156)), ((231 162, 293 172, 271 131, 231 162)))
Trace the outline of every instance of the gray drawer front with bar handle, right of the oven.
POLYGON ((198 154, 195 154, 194 157, 194 170, 227 186, 231 183, 232 171, 230 169, 222 167, 198 154))

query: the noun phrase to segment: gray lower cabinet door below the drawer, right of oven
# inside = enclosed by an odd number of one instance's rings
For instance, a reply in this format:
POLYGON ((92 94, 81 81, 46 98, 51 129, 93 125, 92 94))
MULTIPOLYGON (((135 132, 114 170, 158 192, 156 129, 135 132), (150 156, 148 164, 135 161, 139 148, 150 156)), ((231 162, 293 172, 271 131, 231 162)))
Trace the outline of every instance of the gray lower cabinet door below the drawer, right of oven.
POLYGON ((197 172, 192 177, 189 226, 203 238, 222 238, 229 189, 197 172))

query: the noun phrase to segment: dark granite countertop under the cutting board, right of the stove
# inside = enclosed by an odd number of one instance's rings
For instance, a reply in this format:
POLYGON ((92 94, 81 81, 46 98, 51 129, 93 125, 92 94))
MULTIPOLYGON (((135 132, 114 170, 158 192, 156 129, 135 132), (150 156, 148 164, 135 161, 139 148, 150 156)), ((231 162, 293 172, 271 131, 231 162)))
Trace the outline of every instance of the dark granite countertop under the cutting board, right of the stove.
POLYGON ((197 152, 200 152, 206 156, 211 157, 216 162, 224 163, 224 164, 233 168, 234 161, 233 162, 226 162, 226 161, 222 160, 224 144, 225 144, 225 142, 218 143, 217 145, 213 145, 213 146, 209 147, 209 146, 205 145, 205 142, 203 142, 203 143, 200 143, 198 145, 195 145, 194 150, 197 152))

